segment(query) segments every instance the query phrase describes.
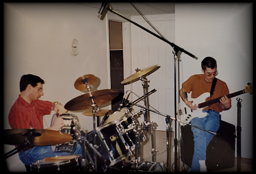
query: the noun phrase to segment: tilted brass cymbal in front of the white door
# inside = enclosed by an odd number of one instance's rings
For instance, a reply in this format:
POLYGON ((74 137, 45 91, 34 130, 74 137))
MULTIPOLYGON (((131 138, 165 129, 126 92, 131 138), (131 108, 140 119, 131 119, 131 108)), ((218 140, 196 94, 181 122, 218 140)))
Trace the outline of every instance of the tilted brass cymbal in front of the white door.
POLYGON ((137 81, 139 79, 139 77, 148 76, 149 74, 151 74, 152 72, 155 72, 159 68, 160 68, 160 66, 158 67, 158 65, 152 65, 151 67, 139 70, 139 71, 135 72, 134 74, 131 74, 131 76, 125 78, 125 80, 121 81, 121 84, 128 84, 129 82, 137 81))

